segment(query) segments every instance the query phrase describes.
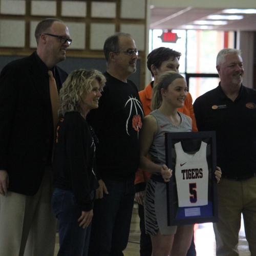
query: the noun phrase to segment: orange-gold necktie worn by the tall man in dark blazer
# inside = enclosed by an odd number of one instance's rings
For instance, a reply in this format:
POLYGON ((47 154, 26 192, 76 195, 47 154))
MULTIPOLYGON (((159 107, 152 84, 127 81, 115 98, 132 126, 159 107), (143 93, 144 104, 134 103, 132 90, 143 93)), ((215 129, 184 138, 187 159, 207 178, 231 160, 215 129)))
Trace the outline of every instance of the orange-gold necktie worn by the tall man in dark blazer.
POLYGON ((53 118, 53 135, 55 137, 56 127, 58 123, 58 109, 59 109, 59 95, 56 86, 56 81, 52 74, 52 71, 48 71, 49 74, 49 89, 50 89, 50 98, 51 98, 51 105, 52 105, 52 118, 53 118))

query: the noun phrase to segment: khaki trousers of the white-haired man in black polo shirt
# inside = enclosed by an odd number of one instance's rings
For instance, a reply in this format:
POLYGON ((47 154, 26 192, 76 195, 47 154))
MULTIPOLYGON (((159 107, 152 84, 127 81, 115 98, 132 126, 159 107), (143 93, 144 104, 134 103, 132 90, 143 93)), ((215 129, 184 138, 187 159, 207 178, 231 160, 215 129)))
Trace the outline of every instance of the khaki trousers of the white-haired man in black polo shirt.
POLYGON ((241 214, 251 255, 256 255, 256 177, 244 181, 221 179, 218 184, 219 221, 214 224, 217 256, 238 256, 241 214))

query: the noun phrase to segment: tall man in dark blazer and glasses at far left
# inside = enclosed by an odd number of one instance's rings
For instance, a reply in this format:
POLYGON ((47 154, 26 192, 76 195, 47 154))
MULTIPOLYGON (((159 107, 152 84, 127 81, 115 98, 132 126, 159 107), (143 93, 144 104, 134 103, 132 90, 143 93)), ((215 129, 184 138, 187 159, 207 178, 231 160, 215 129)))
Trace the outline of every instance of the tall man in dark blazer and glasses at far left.
POLYGON ((1 256, 54 253, 54 102, 48 71, 59 91, 67 73, 55 65, 65 60, 72 40, 67 26, 54 18, 42 20, 35 37, 36 52, 10 62, 0 74, 1 256))

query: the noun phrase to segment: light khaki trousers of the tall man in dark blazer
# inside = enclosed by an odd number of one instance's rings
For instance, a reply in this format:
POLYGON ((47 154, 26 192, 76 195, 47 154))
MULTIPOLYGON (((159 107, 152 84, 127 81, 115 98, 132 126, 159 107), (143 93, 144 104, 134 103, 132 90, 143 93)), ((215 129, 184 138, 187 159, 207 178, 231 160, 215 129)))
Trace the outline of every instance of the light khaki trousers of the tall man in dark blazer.
POLYGON ((53 256, 56 219, 51 209, 52 169, 34 196, 0 196, 0 255, 53 256))

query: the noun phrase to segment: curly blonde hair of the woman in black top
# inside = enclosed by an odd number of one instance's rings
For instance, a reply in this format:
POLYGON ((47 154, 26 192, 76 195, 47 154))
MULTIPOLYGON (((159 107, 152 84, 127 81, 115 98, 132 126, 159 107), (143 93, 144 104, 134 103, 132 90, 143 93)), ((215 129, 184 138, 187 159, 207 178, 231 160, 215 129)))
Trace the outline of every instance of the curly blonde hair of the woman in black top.
POLYGON ((59 92, 59 117, 64 117, 66 112, 70 111, 80 112, 81 97, 84 93, 88 94, 92 91, 92 83, 95 79, 102 89, 106 79, 98 70, 77 69, 68 75, 59 92))

